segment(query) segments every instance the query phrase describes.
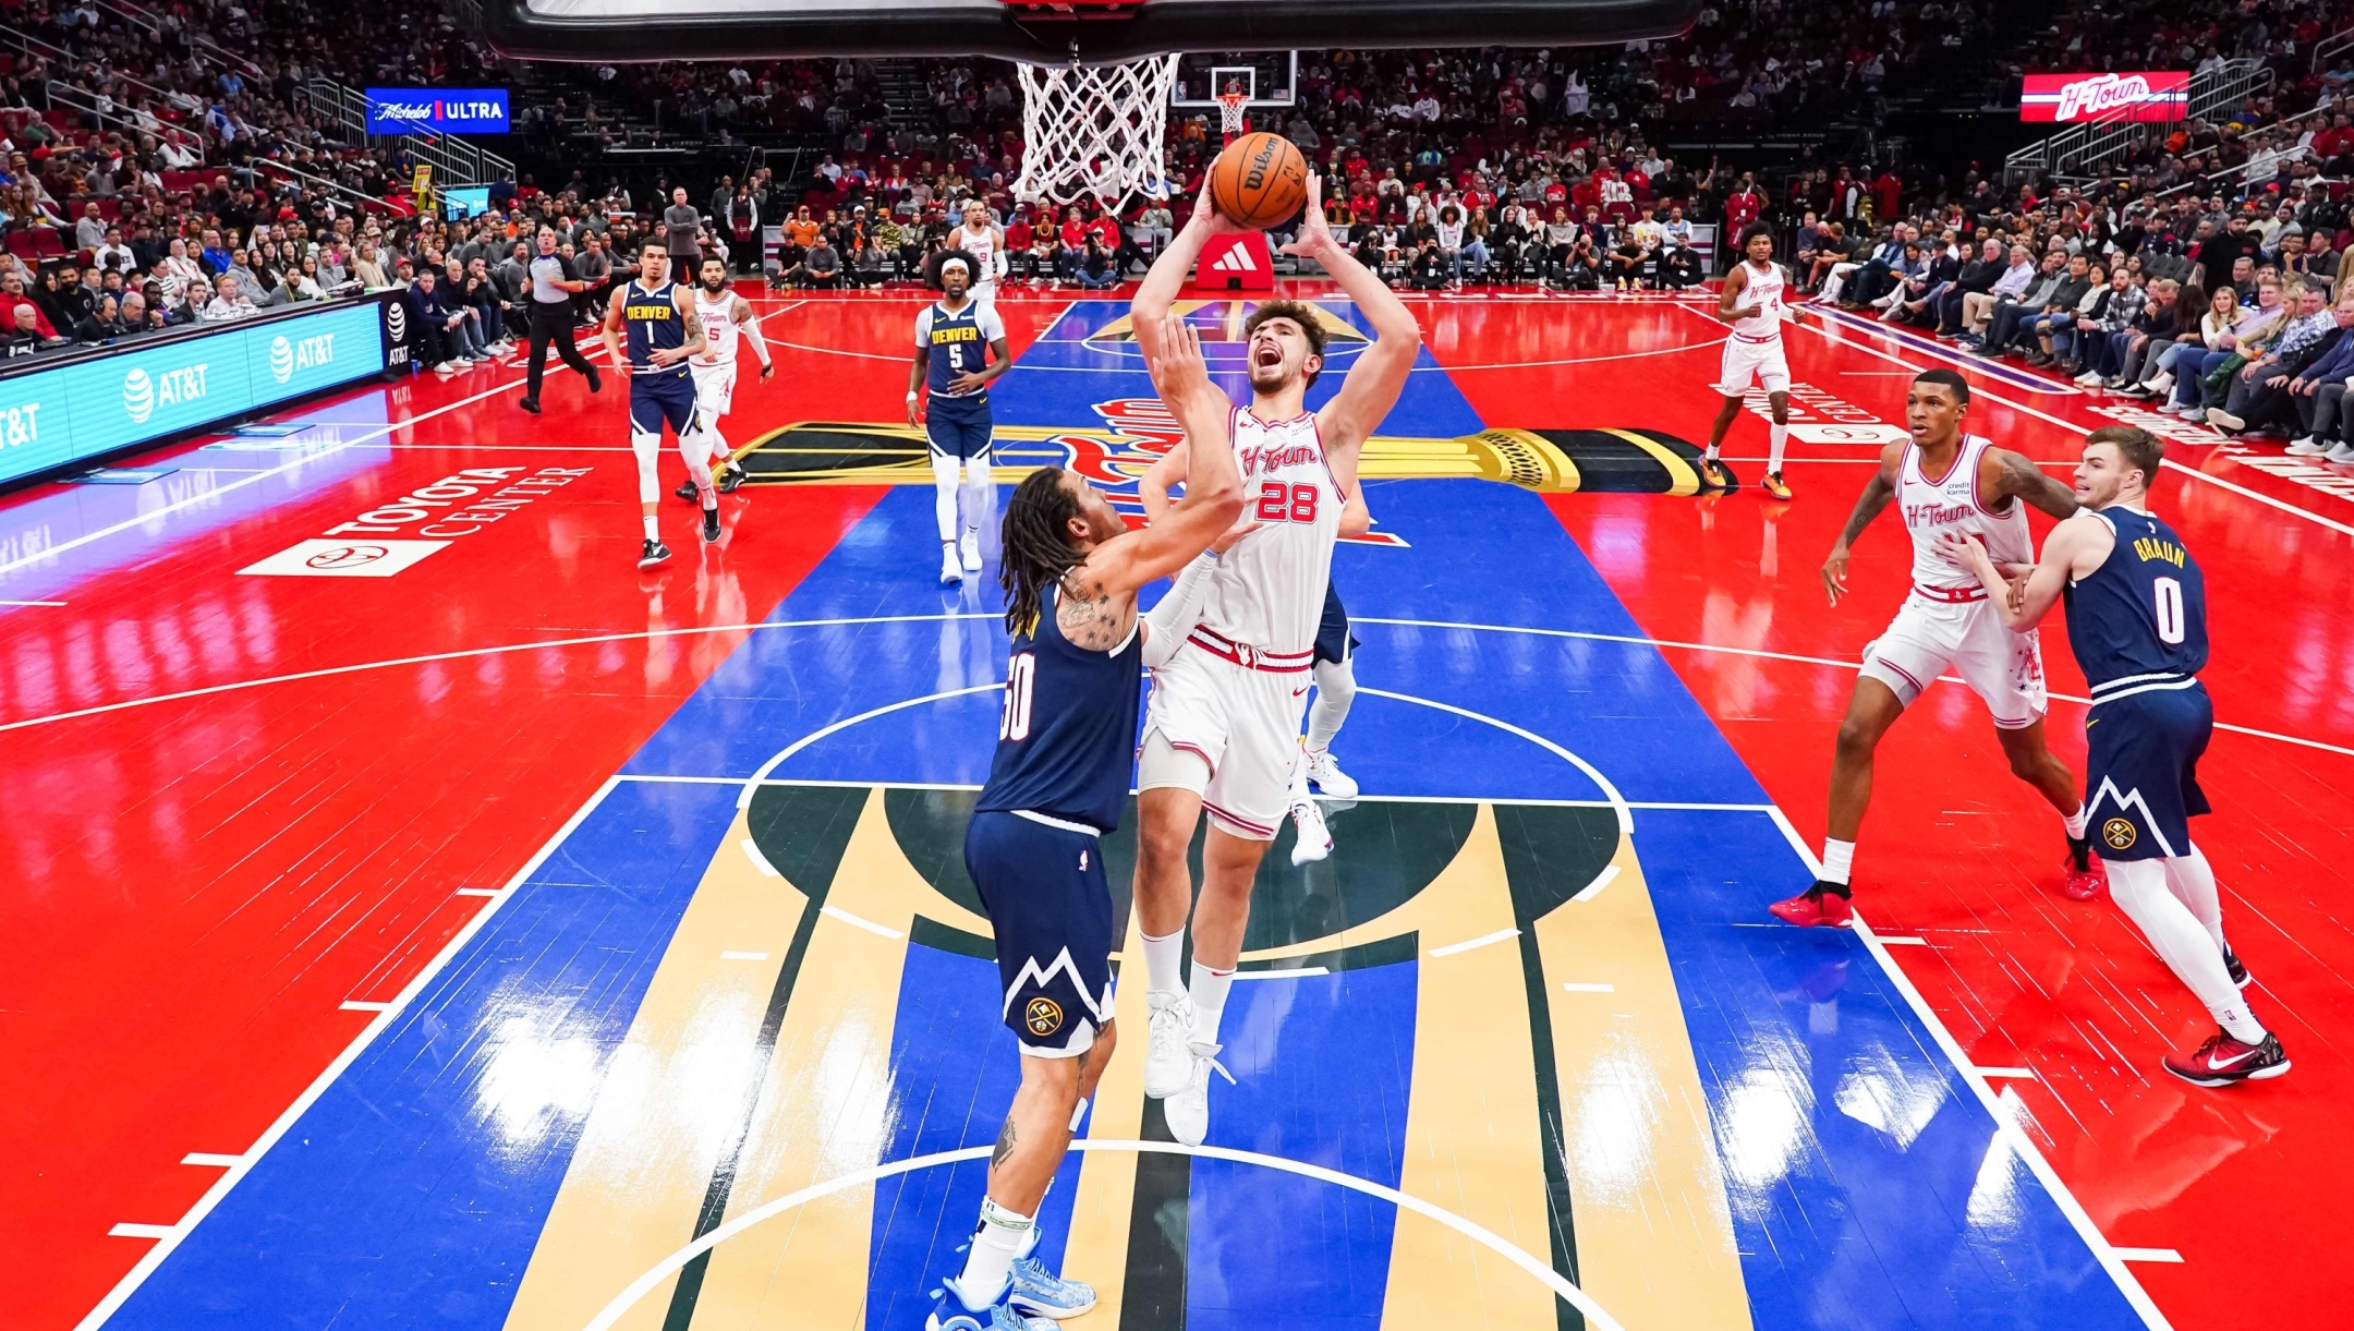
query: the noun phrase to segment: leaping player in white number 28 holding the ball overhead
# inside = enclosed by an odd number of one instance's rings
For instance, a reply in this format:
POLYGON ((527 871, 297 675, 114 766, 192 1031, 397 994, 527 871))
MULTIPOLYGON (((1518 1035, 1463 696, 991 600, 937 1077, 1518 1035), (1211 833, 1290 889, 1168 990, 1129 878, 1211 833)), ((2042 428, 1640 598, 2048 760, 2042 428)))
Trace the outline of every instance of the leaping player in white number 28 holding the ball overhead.
MULTIPOLYGON (((1137 759, 1135 900, 1151 1011, 1144 1093, 1165 1100, 1170 1133, 1186 1145, 1210 1131, 1210 1072, 1231 1079, 1217 1065, 1217 1027, 1250 921, 1250 881, 1290 808, 1332 542, 1356 495, 1358 452, 1422 349, 1415 316, 1332 238, 1314 174, 1304 193, 1299 238, 1283 252, 1321 264, 1372 323, 1375 342, 1339 393, 1309 412, 1306 391, 1323 370, 1318 311, 1274 299, 1245 320, 1250 403, 1229 412, 1224 436, 1201 436, 1193 448, 1215 441, 1233 450, 1248 514, 1264 525, 1219 556, 1184 650, 1153 669, 1137 759), (1186 843, 1203 813, 1210 834, 1193 905, 1186 843), (1182 978, 1189 907, 1193 966, 1182 978)), ((1203 245, 1236 231, 1205 181, 1130 306, 1146 360, 1163 351, 1163 320, 1203 245)))

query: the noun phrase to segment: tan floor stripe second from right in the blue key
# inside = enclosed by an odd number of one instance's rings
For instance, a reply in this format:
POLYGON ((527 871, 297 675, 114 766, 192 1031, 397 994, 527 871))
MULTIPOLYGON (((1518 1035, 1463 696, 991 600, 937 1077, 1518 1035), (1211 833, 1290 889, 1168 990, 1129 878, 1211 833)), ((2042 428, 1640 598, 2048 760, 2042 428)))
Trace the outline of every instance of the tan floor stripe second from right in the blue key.
MULTIPOLYGON (((1544 1138, 1518 947, 1445 956, 1431 947, 1514 928, 1492 806, 1478 806, 1462 850, 1403 909, 1417 905, 1415 1072, 1398 1192, 1483 1225, 1525 1253, 1547 1253, 1544 1138)), ((1554 1293, 1492 1249, 1401 1209, 1382 1326, 1554 1331, 1558 1319, 1554 1293)))

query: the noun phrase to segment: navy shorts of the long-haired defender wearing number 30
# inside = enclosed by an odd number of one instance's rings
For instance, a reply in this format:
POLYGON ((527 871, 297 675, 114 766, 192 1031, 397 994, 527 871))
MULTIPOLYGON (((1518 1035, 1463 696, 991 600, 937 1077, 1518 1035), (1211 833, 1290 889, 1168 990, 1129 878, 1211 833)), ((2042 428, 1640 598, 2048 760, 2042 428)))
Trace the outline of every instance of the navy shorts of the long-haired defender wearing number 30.
POLYGON ((1076 822, 975 813, 965 872, 998 935, 1005 1025, 1022 1053, 1076 1058, 1111 1020, 1111 886, 1104 848, 1076 822))

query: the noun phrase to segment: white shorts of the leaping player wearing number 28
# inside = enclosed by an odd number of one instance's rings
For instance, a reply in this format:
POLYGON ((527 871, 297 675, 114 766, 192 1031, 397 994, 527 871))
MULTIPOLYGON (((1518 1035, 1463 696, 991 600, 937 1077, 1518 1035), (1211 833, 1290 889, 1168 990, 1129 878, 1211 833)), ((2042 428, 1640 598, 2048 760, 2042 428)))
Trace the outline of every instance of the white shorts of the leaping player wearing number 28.
POLYGON ((1191 789, 1219 829, 1274 841, 1292 806, 1299 719, 1314 681, 1306 664, 1302 657, 1299 669, 1255 669, 1189 643, 1153 671, 1137 789, 1191 789), (1201 763, 1163 761, 1156 737, 1201 763))

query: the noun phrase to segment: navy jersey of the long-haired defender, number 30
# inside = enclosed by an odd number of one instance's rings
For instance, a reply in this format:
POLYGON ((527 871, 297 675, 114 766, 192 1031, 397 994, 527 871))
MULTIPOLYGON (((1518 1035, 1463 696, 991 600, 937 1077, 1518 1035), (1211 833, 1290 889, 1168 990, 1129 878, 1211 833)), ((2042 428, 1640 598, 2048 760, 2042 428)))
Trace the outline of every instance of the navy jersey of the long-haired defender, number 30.
POLYGON ((1113 832, 1137 761, 1144 686, 1139 624, 1109 653, 1080 648, 1055 622, 1057 587, 1005 662, 998 754, 975 813, 1029 810, 1113 832))

